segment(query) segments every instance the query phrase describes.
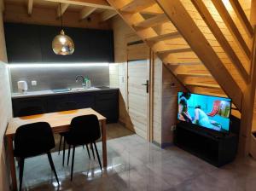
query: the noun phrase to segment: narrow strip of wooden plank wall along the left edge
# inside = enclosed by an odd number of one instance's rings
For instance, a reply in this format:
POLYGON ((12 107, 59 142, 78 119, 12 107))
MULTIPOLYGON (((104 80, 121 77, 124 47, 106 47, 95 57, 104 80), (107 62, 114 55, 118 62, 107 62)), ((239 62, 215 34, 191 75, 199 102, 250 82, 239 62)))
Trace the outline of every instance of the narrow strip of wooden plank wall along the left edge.
POLYGON ((6 164, 3 136, 11 117, 11 101, 9 88, 9 72, 7 68, 7 55, 3 34, 2 0, 0 0, 0 190, 9 190, 9 171, 6 164))

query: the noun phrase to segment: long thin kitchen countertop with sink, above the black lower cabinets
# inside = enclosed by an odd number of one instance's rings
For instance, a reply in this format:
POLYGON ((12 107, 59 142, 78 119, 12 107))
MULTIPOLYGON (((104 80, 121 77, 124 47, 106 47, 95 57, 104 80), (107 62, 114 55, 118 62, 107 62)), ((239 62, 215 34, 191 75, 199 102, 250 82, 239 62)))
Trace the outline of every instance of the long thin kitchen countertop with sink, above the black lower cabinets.
POLYGON ((26 93, 12 93, 12 98, 22 98, 22 97, 37 97, 37 96, 54 96, 54 95, 65 95, 65 94, 77 94, 91 91, 104 91, 104 90, 118 90, 118 88, 109 87, 91 87, 90 89, 84 90, 41 90, 41 91, 27 91, 26 93))

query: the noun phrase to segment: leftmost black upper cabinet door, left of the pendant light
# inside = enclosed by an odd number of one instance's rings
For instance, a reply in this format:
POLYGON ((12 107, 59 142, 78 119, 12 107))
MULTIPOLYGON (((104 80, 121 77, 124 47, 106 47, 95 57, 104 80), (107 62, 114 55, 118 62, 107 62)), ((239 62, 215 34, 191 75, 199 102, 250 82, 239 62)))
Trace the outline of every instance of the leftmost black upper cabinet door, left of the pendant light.
POLYGON ((4 29, 9 63, 42 61, 38 26, 5 23, 4 29))

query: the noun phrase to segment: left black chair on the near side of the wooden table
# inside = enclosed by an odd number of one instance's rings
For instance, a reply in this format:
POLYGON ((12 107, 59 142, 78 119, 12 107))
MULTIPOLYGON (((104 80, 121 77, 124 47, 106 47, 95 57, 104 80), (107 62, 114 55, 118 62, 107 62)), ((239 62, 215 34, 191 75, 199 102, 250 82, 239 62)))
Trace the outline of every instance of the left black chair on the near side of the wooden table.
MULTIPOLYGON (((20 190, 22 187, 24 161, 26 158, 47 153, 49 165, 55 174, 59 184, 59 179, 55 171, 50 149, 55 148, 55 139, 48 123, 38 122, 24 124, 15 133, 15 157, 19 158, 20 166, 20 190)), ((60 185, 60 184, 59 184, 60 185)))

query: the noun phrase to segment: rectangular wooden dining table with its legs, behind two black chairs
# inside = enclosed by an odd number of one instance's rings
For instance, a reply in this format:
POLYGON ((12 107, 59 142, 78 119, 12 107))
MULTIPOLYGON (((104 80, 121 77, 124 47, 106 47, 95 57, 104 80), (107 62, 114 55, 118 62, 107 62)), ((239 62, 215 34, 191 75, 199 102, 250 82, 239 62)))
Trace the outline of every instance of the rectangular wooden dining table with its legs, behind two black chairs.
POLYGON ((8 141, 9 163, 12 178, 12 186, 14 190, 17 190, 17 180, 15 171, 15 156, 13 140, 15 132, 22 124, 31 124, 35 122, 48 122, 54 133, 65 132, 69 129, 69 124, 74 117, 80 115, 95 114, 102 124, 102 159, 103 166, 107 166, 107 136, 106 136, 106 118, 100 113, 96 113, 91 108, 84 108, 78 110, 70 110, 57 113, 44 113, 20 118, 13 118, 10 120, 5 136, 8 141))

